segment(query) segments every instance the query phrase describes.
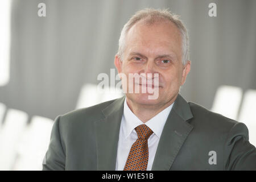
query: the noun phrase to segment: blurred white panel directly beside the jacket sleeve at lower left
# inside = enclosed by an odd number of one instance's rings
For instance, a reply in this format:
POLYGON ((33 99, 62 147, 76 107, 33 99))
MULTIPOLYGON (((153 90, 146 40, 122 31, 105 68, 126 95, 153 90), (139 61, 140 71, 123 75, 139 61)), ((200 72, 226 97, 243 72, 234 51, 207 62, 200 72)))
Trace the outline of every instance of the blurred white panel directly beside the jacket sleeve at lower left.
POLYGON ((44 155, 50 141, 52 119, 34 116, 18 144, 14 170, 42 170, 44 155))

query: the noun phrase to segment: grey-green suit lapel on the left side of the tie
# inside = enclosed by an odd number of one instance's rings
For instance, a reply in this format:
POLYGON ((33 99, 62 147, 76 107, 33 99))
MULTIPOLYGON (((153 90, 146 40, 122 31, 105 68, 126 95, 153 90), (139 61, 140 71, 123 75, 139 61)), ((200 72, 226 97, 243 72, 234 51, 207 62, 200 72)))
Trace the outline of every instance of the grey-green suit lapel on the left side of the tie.
POLYGON ((97 170, 115 170, 124 100, 125 97, 115 100, 102 110, 105 118, 95 122, 97 170))

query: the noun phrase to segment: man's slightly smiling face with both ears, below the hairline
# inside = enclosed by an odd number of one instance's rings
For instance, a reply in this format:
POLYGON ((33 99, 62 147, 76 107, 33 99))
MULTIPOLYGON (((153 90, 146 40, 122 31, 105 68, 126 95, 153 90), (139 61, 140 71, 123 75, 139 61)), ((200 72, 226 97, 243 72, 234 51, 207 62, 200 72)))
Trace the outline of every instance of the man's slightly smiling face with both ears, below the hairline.
MULTIPOLYGON (((141 105, 165 105, 175 100, 190 70, 190 61, 182 64, 181 43, 181 34, 171 22, 156 22, 151 25, 138 22, 130 28, 126 36, 123 60, 115 56, 115 66, 118 73, 126 75, 128 88, 131 86, 128 82, 129 73, 144 73, 146 76, 152 73, 152 83, 154 84, 154 79, 159 80, 159 96, 149 100, 148 96, 152 94, 148 92, 126 93, 127 100, 141 105), (155 73, 158 73, 158 77, 154 77, 155 73)), ((136 84, 139 85, 133 82, 133 88, 136 84)), ((154 88, 156 89, 156 85, 154 88)))

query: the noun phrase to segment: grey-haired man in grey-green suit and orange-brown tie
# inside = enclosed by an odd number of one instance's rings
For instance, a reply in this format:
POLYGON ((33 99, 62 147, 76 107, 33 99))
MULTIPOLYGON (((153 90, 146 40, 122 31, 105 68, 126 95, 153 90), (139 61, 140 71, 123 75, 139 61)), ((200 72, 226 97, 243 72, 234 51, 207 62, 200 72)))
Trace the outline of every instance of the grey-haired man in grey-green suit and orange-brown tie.
POLYGON ((144 74, 157 82, 122 79, 125 97, 59 115, 43 169, 256 170, 256 149, 243 123, 180 96, 191 67, 188 52, 176 15, 138 11, 123 27, 115 67, 123 76, 144 74), (127 91, 135 86, 139 93, 127 91), (158 97, 148 99, 152 93, 142 88, 157 90, 158 97))

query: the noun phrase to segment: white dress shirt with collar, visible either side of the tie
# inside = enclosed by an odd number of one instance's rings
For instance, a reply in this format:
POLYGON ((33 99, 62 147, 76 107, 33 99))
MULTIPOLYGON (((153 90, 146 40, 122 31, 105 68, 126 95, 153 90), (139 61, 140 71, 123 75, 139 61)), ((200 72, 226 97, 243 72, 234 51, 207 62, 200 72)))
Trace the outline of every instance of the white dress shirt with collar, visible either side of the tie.
POLYGON ((166 109, 155 115, 153 118, 143 123, 137 116, 130 110, 127 105, 126 98, 123 105, 123 116, 119 131, 119 140, 117 148, 117 161, 115 163, 115 170, 122 171, 125 167, 131 146, 137 140, 138 135, 134 130, 135 127, 145 124, 154 133, 148 138, 148 164, 147 171, 150 171, 155 158, 156 148, 166 123, 167 117, 172 109, 172 103, 166 109))

